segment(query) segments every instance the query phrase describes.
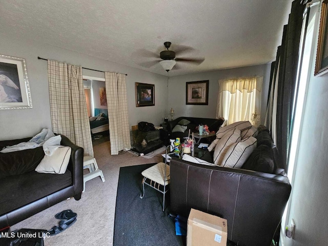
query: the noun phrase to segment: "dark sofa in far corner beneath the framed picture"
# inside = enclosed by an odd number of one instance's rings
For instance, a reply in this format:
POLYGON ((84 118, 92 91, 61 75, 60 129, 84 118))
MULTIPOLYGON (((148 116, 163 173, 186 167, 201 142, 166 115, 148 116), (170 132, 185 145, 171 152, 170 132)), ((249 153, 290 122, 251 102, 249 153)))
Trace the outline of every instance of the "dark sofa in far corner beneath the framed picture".
POLYGON ((217 131, 219 127, 223 124, 224 119, 212 119, 212 118, 197 118, 197 117, 178 117, 172 121, 168 121, 168 134, 170 139, 180 138, 180 141, 183 140, 183 137, 188 137, 188 133, 198 132, 196 127, 199 125, 208 125, 210 131, 217 131), (172 132, 173 128, 178 124, 181 119, 187 119, 190 121, 190 124, 187 125, 187 130, 185 132, 172 132))

